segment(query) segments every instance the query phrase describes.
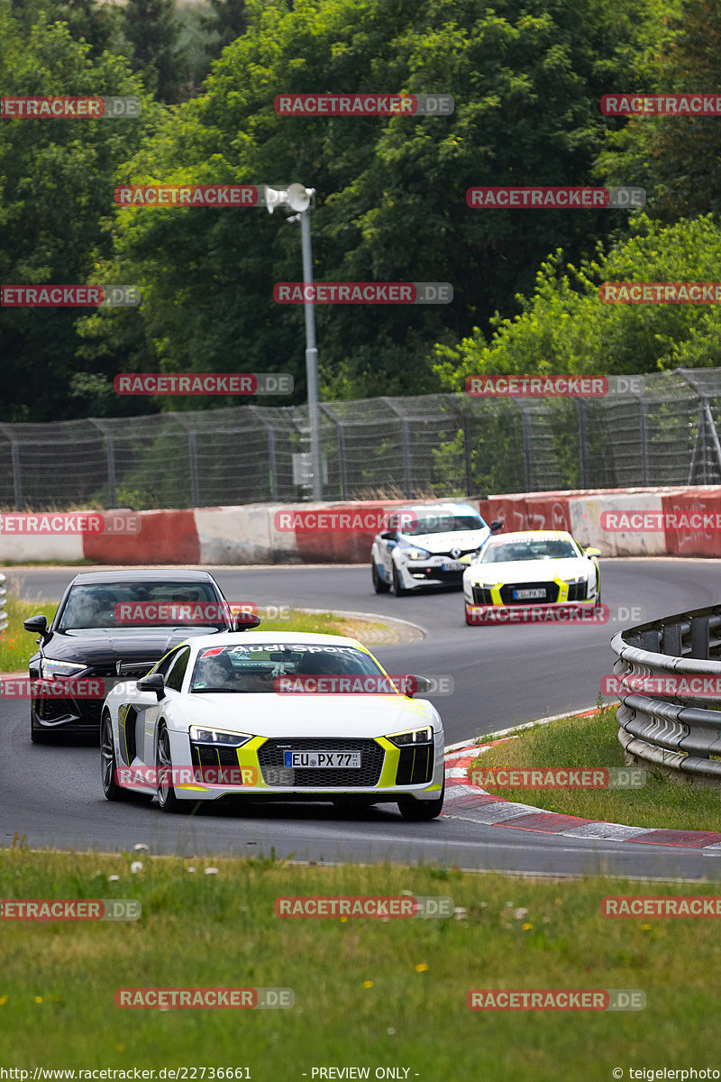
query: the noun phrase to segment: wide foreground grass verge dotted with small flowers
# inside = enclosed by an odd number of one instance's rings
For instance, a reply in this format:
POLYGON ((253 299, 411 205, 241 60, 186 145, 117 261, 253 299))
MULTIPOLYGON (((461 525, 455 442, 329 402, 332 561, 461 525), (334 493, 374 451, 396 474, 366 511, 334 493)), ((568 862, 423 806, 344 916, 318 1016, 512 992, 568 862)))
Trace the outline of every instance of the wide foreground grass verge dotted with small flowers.
POLYGON ((565 1078, 605 1082, 619 1064, 646 1063, 651 1047, 656 1064, 709 1066, 716 923, 600 914, 607 895, 716 894, 708 883, 643 889, 601 879, 23 848, 0 854, 0 878, 4 897, 135 898, 143 908, 135 923, 3 923, 5 1067, 248 1067, 255 1082, 310 1079, 313 1067, 329 1065, 368 1067, 370 1078, 377 1067, 400 1066, 426 1082, 558 1082, 562 1069, 565 1078), (143 867, 132 874, 134 859, 143 867), (217 871, 204 874, 211 863, 217 871), (275 916, 281 895, 402 890, 450 896, 457 918, 275 916), (187 986, 292 988, 295 1006, 115 1005, 118 988, 187 986), (647 1005, 489 1014, 466 1006, 473 988, 641 989, 647 1005))

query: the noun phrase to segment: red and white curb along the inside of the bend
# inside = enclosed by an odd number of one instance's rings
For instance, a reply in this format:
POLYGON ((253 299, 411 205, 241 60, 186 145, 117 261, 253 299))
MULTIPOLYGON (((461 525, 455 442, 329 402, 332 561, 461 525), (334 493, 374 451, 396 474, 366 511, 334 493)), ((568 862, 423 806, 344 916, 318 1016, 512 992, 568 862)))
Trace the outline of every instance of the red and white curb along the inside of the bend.
POLYGON ((547 812, 531 804, 517 804, 503 796, 494 796, 480 786, 472 784, 468 779, 468 768, 473 760, 489 748, 513 739, 516 739, 513 736, 502 736, 499 740, 491 740, 480 747, 471 743, 465 748, 455 747, 446 751, 445 804, 442 813, 444 816, 483 823, 486 827, 530 830, 536 834, 635 842, 643 845, 673 845, 684 849, 703 849, 709 855, 721 850, 721 833, 705 830, 654 830, 651 827, 626 827, 617 822, 580 819, 577 816, 547 812))

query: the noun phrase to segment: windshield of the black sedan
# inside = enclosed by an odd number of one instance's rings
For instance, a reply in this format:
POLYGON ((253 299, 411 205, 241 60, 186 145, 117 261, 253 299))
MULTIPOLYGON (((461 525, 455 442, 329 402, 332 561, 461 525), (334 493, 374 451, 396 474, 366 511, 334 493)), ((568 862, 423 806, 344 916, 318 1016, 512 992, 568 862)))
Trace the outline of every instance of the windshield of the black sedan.
POLYGON ((80 628, 205 626, 227 630, 225 602, 210 582, 109 582, 70 589, 58 631, 80 628))

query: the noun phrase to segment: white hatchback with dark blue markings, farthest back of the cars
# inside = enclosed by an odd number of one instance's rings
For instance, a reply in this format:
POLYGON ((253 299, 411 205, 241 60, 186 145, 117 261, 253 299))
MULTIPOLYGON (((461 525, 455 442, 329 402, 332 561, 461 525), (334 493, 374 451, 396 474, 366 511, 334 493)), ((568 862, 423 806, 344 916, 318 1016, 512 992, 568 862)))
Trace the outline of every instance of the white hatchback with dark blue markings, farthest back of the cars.
POLYGON ((402 597, 422 586, 459 586, 466 567, 462 556, 477 552, 502 528, 502 523, 486 526, 468 503, 393 510, 388 528, 373 539, 373 589, 402 597))

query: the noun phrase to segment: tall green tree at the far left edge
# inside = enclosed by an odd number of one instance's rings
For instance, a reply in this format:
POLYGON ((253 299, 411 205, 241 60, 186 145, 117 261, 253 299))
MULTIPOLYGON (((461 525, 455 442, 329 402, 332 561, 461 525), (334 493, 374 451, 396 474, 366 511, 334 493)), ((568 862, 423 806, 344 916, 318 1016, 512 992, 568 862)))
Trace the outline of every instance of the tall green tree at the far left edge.
MULTIPOLYGON (((0 3, 0 82, 6 96, 138 95, 122 58, 91 58, 67 27, 41 21, 28 26, 0 3)), ((147 100, 138 119, 11 119, 0 123, 0 281, 56 285, 102 281, 101 260, 111 255, 104 229, 112 207, 114 174, 147 137, 153 110, 147 100)), ((105 269, 114 274, 112 261, 105 269)), ((3 308, 0 321, 5 421, 44 421, 85 412, 69 399, 78 368, 79 312, 72 308, 3 308)), ((106 318, 116 313, 108 312, 106 318)), ((136 314, 137 320, 137 314, 136 314)), ((110 374, 122 365, 108 358, 110 374)))

